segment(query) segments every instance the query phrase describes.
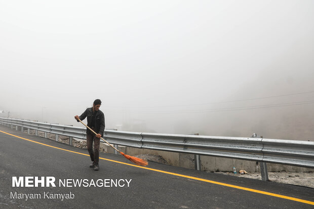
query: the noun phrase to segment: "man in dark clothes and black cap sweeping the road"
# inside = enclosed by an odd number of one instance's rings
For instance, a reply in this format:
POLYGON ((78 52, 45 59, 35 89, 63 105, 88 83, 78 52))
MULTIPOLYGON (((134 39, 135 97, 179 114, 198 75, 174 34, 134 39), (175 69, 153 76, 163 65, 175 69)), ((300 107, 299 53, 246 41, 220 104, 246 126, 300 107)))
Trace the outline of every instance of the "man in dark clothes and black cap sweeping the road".
POLYGON ((99 170, 98 162, 100 137, 103 137, 105 130, 105 116, 104 113, 99 110, 100 105, 100 99, 96 99, 93 103, 93 107, 87 108, 80 117, 77 115, 74 116, 77 122, 80 122, 80 120, 84 120, 87 117, 87 126, 97 133, 97 135, 95 135, 89 129, 86 130, 87 149, 91 160, 93 161, 93 163, 90 165, 90 168, 94 168, 95 171, 99 170), (80 120, 78 120, 78 118, 80 118, 80 120))

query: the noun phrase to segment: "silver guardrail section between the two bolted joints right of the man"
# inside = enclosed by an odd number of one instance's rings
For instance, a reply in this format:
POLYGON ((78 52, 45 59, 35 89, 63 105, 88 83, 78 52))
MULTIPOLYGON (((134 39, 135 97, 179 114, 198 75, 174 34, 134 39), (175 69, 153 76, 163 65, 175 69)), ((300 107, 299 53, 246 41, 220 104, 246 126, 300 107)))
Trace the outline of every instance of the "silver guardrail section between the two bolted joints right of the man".
POLYGON ((142 133, 143 146, 189 154, 262 161, 261 139, 142 133))

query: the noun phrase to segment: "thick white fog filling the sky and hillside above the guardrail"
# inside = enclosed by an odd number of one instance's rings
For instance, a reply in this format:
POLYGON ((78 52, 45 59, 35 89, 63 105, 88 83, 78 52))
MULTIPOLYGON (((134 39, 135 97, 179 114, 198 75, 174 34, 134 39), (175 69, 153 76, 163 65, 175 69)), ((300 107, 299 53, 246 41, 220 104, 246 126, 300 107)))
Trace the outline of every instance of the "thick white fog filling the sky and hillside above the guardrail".
POLYGON ((1 1, 1 117, 313 141, 313 1, 1 1))

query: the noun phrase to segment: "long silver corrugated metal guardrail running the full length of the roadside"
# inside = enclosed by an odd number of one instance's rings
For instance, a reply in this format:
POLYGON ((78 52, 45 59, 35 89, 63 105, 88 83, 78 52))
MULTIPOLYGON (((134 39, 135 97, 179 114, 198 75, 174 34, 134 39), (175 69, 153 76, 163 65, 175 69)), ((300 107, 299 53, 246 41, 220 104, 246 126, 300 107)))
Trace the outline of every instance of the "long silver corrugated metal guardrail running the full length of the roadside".
MULTIPOLYGON (((11 125, 11 128, 16 126, 22 127, 22 130, 27 128, 86 139, 86 128, 3 117, 0 117, 0 122, 11 125)), ((266 162, 314 168, 314 142, 111 130, 105 130, 104 138, 115 145, 259 161, 263 180, 268 180, 266 162)))

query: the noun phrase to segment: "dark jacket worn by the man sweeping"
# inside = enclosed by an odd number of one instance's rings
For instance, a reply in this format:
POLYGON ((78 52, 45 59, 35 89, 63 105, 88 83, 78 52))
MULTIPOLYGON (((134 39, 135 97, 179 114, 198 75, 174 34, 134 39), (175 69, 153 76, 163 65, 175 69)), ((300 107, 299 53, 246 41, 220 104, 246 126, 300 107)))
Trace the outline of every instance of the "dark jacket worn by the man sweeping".
MULTIPOLYGON (((101 137, 104 135, 104 130, 105 130, 105 116, 104 113, 101 110, 95 111, 95 122, 94 122, 94 130, 97 134, 100 134, 101 137)), ((87 126, 89 128, 91 127, 92 124, 92 118, 93 118, 93 107, 87 108, 85 112, 80 116, 80 120, 84 120, 87 117, 87 126)), ((80 122, 80 120, 77 120, 77 122, 80 122)), ((89 129, 86 128, 86 132, 92 133, 89 129)), ((95 135, 94 133, 92 133, 95 135)))

